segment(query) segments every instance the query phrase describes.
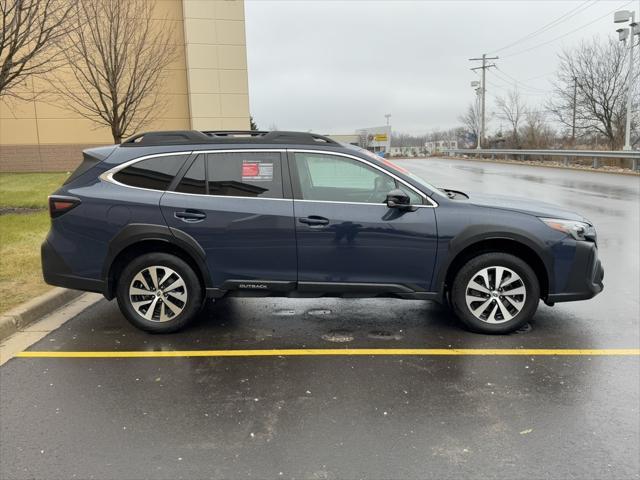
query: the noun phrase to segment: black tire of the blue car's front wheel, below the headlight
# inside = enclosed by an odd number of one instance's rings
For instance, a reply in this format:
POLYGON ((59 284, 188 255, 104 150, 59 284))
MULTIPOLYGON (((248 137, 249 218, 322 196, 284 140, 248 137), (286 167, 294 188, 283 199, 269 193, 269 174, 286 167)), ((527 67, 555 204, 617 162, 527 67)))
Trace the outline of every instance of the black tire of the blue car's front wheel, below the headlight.
POLYGON ((458 270, 453 280, 450 300, 454 313, 470 330, 489 334, 510 333, 522 327, 533 317, 540 301, 540 284, 533 269, 522 259, 508 253, 484 253, 472 258, 458 270), (498 273, 495 267, 507 268, 511 272, 499 271, 500 273, 498 273), (489 285, 485 285, 485 277, 481 272, 487 274, 489 285), (491 272, 493 272, 493 276, 491 272), (507 278, 506 281, 501 282, 503 287, 508 287, 507 289, 498 291, 495 288, 487 288, 489 293, 485 293, 469 287, 469 297, 467 297, 469 282, 472 279, 480 283, 482 287, 492 287, 495 286, 498 275, 507 278), (523 296, 507 295, 509 291, 522 291, 521 287, 525 289, 523 296), (486 298, 471 301, 481 295, 486 298), (470 304, 467 303, 468 298, 470 304), (488 303, 483 309, 485 302, 488 303), (501 302, 502 305, 499 305, 498 302, 501 302), (471 308, 474 308, 476 313, 479 311, 478 315, 484 318, 476 317, 471 308), (520 308, 519 311, 518 308, 520 308), (503 311, 505 315, 502 314, 503 311), (498 323, 489 323, 490 321, 498 323))

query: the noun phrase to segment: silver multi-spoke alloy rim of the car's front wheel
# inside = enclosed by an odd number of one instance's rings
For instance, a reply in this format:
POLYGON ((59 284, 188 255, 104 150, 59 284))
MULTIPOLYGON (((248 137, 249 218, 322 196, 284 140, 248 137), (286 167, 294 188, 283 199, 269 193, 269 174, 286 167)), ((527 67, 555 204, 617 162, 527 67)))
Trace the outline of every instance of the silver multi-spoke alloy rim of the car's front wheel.
POLYGON ((524 307, 527 289, 520 276, 507 267, 491 266, 472 275, 465 289, 471 314, 485 323, 512 320, 524 307))

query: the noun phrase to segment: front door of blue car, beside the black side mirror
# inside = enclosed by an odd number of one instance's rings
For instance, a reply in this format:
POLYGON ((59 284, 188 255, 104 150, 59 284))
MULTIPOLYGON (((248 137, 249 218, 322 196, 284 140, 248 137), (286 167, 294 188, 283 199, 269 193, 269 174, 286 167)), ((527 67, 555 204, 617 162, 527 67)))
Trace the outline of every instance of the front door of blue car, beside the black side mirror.
MULTIPOLYGON (((292 152, 289 158, 299 282, 429 291, 437 246, 433 208, 388 208, 382 203, 386 193, 408 187, 368 162, 315 152, 292 152)), ((408 190, 413 202, 422 201, 408 190)))

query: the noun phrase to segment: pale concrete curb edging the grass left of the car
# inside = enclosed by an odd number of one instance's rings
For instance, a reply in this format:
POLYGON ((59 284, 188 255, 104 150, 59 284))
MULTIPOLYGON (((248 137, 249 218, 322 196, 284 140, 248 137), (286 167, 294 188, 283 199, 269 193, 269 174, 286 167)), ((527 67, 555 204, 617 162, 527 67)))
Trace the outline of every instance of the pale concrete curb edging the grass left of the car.
POLYGON ((0 341, 75 300, 84 292, 56 287, 0 315, 0 341))

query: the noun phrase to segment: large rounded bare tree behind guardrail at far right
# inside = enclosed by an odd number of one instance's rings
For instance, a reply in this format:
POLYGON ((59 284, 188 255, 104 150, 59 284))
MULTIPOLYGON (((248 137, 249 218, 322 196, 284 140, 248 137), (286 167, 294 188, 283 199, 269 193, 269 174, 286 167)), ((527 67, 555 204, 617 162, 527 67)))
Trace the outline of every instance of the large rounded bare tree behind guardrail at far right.
MULTIPOLYGON (((620 148, 624 139, 627 51, 618 41, 597 38, 563 51, 554 83, 555 95, 549 102, 549 109, 560 123, 572 127, 575 87, 576 131, 600 132, 611 149, 620 148)), ((632 123, 637 124, 636 120, 632 118, 632 123)))

